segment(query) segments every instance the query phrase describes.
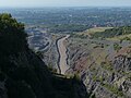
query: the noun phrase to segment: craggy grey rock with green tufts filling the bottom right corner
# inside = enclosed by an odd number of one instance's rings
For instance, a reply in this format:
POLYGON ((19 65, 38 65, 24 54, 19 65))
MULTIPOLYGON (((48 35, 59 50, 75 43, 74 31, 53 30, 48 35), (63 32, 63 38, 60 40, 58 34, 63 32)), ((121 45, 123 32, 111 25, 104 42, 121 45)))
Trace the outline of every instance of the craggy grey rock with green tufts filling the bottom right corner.
POLYGON ((94 65, 84 74, 87 90, 97 98, 131 97, 131 59, 119 56, 111 63, 94 65))

